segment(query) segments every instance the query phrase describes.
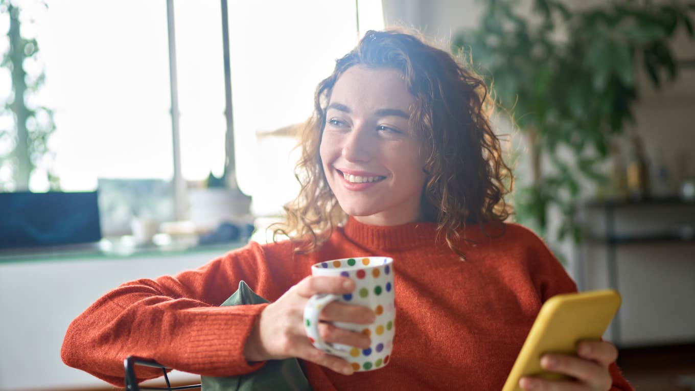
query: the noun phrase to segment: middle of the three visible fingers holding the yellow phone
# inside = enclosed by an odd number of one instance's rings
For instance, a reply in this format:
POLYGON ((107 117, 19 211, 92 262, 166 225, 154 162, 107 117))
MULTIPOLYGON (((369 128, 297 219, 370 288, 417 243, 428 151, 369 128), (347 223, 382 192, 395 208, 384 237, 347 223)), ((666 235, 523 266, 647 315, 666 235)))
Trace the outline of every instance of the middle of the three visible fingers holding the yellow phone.
POLYGON ((584 358, 546 354, 541 357, 541 367, 576 378, 580 383, 591 385, 593 390, 608 390, 612 383, 606 367, 584 358))

